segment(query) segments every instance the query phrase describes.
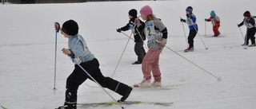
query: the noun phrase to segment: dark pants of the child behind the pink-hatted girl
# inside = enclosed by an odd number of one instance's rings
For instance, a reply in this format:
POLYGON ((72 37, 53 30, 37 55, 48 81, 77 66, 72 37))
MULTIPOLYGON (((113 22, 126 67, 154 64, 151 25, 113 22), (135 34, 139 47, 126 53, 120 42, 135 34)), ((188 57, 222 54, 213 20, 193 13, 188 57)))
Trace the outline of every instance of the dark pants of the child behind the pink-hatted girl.
POLYGON ((138 56, 138 60, 142 62, 144 56, 146 55, 145 49, 143 48, 143 41, 142 42, 135 42, 134 45, 134 52, 138 56))

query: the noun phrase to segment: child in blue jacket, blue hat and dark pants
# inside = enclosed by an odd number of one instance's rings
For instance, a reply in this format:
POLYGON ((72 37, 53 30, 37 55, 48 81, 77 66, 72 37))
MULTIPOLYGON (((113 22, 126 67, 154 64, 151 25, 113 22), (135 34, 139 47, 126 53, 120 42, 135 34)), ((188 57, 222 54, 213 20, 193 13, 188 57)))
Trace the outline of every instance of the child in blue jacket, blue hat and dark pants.
POLYGON ((184 50, 184 53, 193 52, 193 50, 194 50, 194 37, 198 33, 198 25, 196 24, 197 18, 192 13, 192 11, 193 11, 193 8, 191 6, 186 7, 186 20, 181 18, 181 21, 186 22, 187 25, 189 25, 189 28, 190 28, 190 34, 189 34, 189 37, 187 37, 189 47, 184 50))

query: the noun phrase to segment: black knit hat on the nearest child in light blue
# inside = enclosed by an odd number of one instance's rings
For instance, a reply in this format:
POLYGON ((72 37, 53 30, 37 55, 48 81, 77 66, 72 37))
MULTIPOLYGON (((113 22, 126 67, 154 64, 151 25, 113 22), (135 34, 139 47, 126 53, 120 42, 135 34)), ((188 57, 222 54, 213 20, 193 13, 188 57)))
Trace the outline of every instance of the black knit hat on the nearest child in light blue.
POLYGON ((62 31, 70 36, 78 34, 78 23, 74 20, 69 20, 63 23, 62 31))

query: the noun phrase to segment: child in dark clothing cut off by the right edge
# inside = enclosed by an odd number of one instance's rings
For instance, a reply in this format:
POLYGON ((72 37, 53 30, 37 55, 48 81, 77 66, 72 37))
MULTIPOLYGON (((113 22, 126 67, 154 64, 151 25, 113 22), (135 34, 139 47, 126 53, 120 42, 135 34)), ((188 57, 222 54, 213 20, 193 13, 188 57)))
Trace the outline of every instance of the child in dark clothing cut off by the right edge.
POLYGON ((246 11, 244 14, 244 19, 243 21, 238 24, 238 27, 242 25, 246 25, 247 30, 246 30, 246 37, 245 37, 245 43, 242 45, 248 45, 249 44, 249 39, 251 41, 251 45, 249 47, 254 47, 255 46, 255 32, 256 32, 256 25, 255 25, 255 20, 254 18, 250 15, 250 11, 246 11))

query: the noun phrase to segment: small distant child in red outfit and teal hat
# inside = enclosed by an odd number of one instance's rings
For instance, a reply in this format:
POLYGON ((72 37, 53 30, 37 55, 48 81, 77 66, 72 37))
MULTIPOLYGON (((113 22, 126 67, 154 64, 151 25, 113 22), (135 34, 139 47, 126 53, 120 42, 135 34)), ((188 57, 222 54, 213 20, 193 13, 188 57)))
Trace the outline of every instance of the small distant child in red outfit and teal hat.
POLYGON ((220 20, 218 16, 215 14, 214 10, 210 11, 210 18, 206 18, 205 21, 211 21, 213 24, 213 30, 214 30, 214 36, 213 37, 218 37, 220 34, 218 31, 218 28, 220 26, 220 20))

